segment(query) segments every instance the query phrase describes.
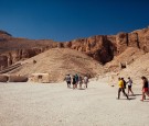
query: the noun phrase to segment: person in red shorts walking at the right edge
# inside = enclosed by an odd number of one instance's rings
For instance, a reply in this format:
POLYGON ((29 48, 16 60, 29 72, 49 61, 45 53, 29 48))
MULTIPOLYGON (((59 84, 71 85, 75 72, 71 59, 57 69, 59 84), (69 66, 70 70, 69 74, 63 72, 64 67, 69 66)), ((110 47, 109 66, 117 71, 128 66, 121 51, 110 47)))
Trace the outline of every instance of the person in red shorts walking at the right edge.
POLYGON ((148 93, 148 79, 146 77, 141 77, 141 80, 142 80, 142 99, 141 101, 145 100, 145 94, 147 94, 149 96, 149 93, 148 93))

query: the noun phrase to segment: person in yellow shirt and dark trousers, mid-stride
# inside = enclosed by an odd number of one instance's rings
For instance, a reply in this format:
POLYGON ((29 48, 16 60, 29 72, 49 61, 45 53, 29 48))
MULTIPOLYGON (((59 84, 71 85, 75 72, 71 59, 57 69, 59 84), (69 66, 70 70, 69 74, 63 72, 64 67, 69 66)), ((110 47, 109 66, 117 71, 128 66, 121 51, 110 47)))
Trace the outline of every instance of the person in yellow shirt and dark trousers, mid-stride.
POLYGON ((121 80, 121 78, 118 78, 118 100, 120 98, 120 92, 123 91, 124 95, 127 98, 127 100, 129 100, 128 95, 126 94, 125 92, 125 89, 124 89, 124 81, 121 80))

